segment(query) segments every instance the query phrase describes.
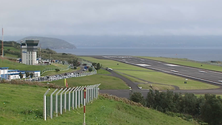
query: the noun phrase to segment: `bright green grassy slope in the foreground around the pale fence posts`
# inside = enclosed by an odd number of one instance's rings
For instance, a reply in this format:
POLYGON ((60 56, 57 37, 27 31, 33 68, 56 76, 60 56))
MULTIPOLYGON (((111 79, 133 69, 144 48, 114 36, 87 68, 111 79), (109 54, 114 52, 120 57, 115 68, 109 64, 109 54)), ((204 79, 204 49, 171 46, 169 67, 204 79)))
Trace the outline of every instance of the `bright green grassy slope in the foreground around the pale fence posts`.
MULTIPOLYGON (((0 124, 22 125, 81 125, 83 109, 43 121, 43 94, 46 88, 0 84, 0 124)), ((190 125, 178 117, 143 107, 131 106, 100 97, 86 106, 87 125, 190 125)))

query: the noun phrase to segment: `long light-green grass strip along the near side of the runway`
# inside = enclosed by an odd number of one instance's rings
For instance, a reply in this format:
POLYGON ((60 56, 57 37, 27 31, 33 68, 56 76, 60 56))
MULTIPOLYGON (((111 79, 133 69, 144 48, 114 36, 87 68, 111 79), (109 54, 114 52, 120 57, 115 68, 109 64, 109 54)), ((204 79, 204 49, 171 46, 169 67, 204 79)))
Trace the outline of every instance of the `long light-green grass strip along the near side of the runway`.
POLYGON ((155 72, 152 70, 131 66, 124 63, 119 63, 112 60, 102 60, 102 59, 95 59, 92 57, 81 57, 85 60, 89 60, 92 62, 99 62, 104 67, 111 67, 114 70, 125 73, 131 76, 135 76, 140 79, 144 79, 153 83, 163 83, 168 85, 176 85, 180 89, 210 89, 210 88, 218 88, 218 86, 206 84, 203 82, 195 81, 195 80, 188 80, 188 84, 184 84, 185 79, 178 76, 173 76, 161 72, 155 72), (119 65, 117 65, 119 63, 119 65), (130 70, 129 70, 130 69, 130 70), (133 70, 133 71, 132 71, 133 70))

